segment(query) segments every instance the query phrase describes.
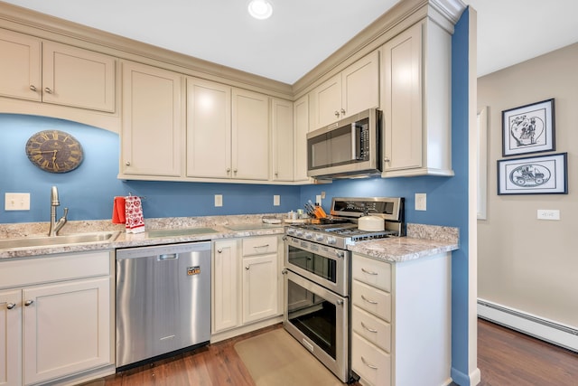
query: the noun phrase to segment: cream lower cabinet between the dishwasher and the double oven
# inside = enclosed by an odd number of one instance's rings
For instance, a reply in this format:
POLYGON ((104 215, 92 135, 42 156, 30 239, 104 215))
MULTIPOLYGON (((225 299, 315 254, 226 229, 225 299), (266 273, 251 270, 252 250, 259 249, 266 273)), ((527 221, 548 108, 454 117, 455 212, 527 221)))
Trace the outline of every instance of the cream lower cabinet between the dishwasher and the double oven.
POLYGON ((281 246, 279 235, 213 242, 213 335, 243 334, 282 314, 281 246))

